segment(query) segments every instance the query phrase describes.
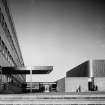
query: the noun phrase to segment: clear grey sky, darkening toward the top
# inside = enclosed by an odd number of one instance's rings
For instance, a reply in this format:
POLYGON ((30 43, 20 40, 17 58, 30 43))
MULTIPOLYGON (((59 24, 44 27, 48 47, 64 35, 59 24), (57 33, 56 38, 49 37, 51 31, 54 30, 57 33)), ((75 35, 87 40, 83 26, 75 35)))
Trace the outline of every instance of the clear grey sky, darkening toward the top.
MULTIPOLYGON (((34 82, 53 82, 88 59, 105 59, 102 0, 9 0, 26 66, 53 66, 34 82)), ((27 76, 27 81, 30 77, 27 76)))

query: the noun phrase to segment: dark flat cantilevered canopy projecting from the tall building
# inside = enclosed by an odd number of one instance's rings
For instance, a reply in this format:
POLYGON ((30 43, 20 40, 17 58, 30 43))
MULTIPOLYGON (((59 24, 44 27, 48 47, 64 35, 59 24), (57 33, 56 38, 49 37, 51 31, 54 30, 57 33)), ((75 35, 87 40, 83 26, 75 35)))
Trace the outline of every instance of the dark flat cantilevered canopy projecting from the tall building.
POLYGON ((34 66, 34 67, 2 67, 2 74, 49 74, 53 66, 34 66))

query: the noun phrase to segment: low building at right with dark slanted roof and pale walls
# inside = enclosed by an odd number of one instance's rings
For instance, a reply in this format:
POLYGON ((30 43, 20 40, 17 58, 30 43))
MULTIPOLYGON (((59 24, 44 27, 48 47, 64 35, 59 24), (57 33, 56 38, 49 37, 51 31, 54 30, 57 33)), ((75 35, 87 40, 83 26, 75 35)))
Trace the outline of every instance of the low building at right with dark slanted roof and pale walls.
POLYGON ((57 90, 64 92, 105 91, 105 60, 88 60, 57 81, 57 90))

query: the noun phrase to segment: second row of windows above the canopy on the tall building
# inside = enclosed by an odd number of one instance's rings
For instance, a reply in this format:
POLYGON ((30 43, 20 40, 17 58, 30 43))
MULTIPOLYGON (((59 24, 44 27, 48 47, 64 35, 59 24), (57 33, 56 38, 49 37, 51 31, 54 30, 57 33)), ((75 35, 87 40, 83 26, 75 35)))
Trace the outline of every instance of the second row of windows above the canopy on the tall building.
POLYGON ((1 23, 2 27, 3 27, 3 30, 4 30, 4 32, 6 34, 6 37, 7 37, 8 41, 9 41, 9 43, 11 44, 11 48, 13 49, 13 51, 15 50, 15 52, 16 52, 16 48, 14 46, 12 37, 11 37, 10 32, 8 30, 8 27, 7 27, 7 24, 5 22, 4 16, 3 16, 2 12, 1 12, 1 9, 0 9, 0 23, 1 23))

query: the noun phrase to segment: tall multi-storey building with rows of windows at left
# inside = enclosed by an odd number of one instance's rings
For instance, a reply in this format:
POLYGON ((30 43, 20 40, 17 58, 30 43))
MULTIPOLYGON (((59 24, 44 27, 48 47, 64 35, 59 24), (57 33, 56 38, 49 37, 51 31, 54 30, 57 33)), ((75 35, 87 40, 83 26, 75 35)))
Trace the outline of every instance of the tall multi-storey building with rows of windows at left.
MULTIPOLYGON (((24 62, 20 51, 18 38, 16 35, 12 15, 7 0, 0 0, 0 66, 18 66, 23 67, 24 62)), ((0 89, 2 83, 18 83, 21 86, 25 82, 25 75, 0 75, 0 89)))

